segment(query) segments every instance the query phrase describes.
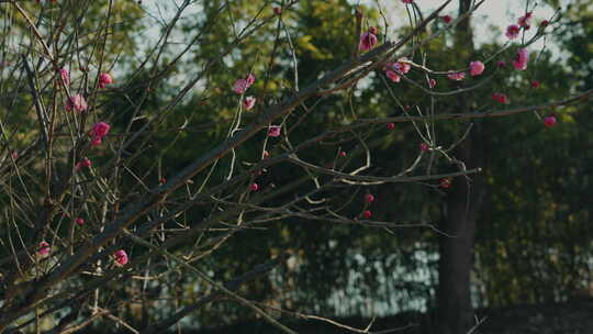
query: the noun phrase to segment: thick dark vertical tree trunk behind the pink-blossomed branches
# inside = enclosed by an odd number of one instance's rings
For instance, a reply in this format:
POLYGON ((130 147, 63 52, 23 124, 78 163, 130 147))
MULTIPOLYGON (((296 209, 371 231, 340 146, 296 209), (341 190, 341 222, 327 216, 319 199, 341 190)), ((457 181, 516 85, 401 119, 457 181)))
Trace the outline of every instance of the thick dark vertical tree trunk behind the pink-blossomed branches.
MULTIPOLYGON (((470 0, 459 0, 459 14, 470 8, 470 0)), ((456 49, 460 67, 467 67, 473 57, 473 37, 470 20, 456 27, 456 49)), ((460 96, 456 110, 469 112, 471 96, 460 96)), ((482 124, 474 123, 470 135, 455 151, 458 160, 468 169, 484 167, 482 124)), ((462 334, 474 324, 470 294, 470 272, 473 267, 475 222, 485 194, 482 175, 457 177, 452 180, 446 199, 441 231, 452 237, 440 237, 438 269, 438 333, 462 334)))

